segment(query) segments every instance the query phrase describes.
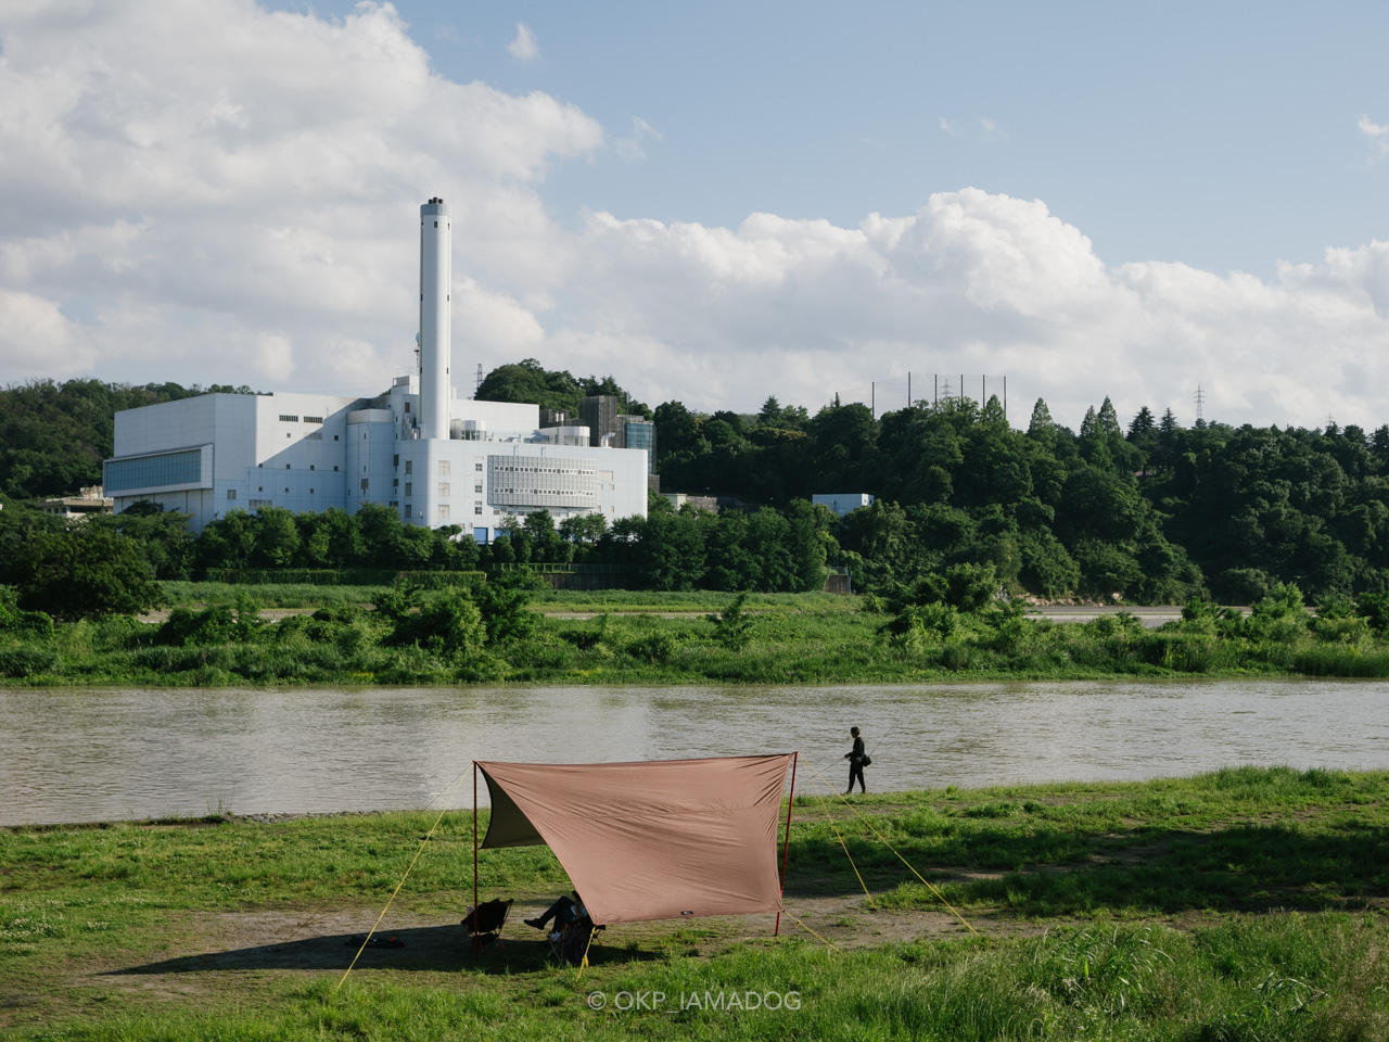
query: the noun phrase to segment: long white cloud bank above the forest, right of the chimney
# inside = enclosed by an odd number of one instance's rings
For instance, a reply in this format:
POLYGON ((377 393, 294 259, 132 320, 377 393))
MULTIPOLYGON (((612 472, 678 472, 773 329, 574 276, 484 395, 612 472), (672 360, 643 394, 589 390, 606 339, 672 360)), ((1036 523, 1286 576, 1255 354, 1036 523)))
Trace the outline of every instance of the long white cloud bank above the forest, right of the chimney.
POLYGON ((1106 395, 1128 413, 1171 404, 1189 422, 1197 383, 1206 415, 1235 422, 1317 425, 1328 408, 1343 422, 1389 418, 1389 243, 1332 250, 1272 282, 1110 268, 1040 201, 965 189, 857 228, 594 214, 579 251, 589 263, 571 289, 600 303, 551 343, 600 336, 586 357, 654 400, 750 410, 775 393, 814 408, 908 371, 964 371, 1007 374, 1015 414, 1043 396, 1071 425, 1106 395))

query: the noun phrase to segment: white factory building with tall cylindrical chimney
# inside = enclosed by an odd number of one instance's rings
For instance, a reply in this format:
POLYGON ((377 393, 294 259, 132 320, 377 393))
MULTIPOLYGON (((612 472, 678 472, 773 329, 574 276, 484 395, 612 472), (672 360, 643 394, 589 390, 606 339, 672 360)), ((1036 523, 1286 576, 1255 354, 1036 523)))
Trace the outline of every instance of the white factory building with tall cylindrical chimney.
POLYGON ((382 395, 203 395, 115 414, 106 495, 156 502, 194 532, 231 510, 363 503, 488 542, 507 518, 646 517, 644 449, 593 446, 588 427, 540 427, 533 404, 454 397, 449 207, 419 208, 419 372, 382 395))

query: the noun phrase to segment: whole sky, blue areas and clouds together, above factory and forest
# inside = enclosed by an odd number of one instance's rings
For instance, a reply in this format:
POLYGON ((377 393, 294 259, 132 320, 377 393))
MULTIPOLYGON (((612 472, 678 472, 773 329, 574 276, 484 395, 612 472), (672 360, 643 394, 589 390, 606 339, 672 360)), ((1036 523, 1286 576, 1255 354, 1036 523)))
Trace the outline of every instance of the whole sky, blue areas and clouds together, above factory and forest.
POLYGON ((0 383, 1389 422, 1389 7, 8 0, 0 383), (982 377, 988 374, 988 382, 982 377))

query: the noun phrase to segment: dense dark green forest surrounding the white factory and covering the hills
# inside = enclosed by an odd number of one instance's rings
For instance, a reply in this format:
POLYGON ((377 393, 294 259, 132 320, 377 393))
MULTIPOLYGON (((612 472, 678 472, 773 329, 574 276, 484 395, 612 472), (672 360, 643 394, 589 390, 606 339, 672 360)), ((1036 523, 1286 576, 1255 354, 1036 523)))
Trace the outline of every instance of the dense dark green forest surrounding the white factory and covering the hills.
MULTIPOLYGON (((210 388, 208 390, 232 390, 210 388)), ((249 393, 246 388, 238 388, 249 393)), ((36 382, 0 392, 0 571, 14 572, 61 525, 18 500, 100 481, 113 414, 201 389, 36 382)), ((644 589, 817 589, 847 565, 863 590, 893 593, 958 564, 992 565, 1014 592, 1046 599, 1253 603, 1276 584, 1313 599, 1389 590, 1389 427, 1182 427, 1142 408, 1122 424, 1106 399, 1079 429, 1038 402, 1025 429, 997 399, 965 397, 874 415, 838 400, 814 415, 768 397, 757 414, 649 410, 611 377, 579 379, 533 360, 494 370, 489 400, 575 408, 613 393, 657 425, 668 492, 736 497, 754 508, 679 513, 653 499, 646 520, 546 513, 478 547, 390 511, 294 517, 232 513, 192 538, 176 514, 99 524, 131 538, 156 578, 208 568, 474 570, 601 564, 644 589), (867 492, 843 520, 813 493, 867 492)), ((33 567, 32 563, 29 567, 33 567)), ((0 582, 15 579, 0 575, 0 582)))

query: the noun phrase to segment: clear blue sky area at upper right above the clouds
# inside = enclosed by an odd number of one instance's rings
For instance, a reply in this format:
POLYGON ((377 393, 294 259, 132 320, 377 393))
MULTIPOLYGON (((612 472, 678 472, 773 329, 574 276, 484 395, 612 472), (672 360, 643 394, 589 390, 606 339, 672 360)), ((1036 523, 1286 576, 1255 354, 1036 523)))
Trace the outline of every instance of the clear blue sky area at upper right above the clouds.
POLYGON ((1043 199, 1108 264, 1267 276, 1389 239, 1386 171, 1357 129, 1389 122, 1385 4, 396 7, 451 79, 660 133, 640 163, 557 167, 561 218, 847 225, 974 186, 1043 199), (532 61, 506 50, 518 22, 532 61))

